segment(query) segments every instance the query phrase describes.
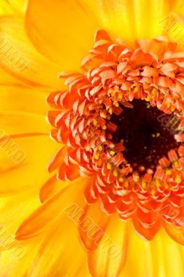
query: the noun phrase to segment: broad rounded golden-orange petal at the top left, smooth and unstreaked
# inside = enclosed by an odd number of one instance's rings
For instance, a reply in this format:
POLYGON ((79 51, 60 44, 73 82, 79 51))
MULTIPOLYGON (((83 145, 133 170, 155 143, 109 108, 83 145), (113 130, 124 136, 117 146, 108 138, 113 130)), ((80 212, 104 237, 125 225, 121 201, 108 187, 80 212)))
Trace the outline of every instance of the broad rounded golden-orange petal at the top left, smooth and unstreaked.
POLYGON ((30 0, 26 28, 42 54, 61 64, 64 70, 73 71, 80 68, 82 57, 93 46, 100 24, 81 1, 30 0))

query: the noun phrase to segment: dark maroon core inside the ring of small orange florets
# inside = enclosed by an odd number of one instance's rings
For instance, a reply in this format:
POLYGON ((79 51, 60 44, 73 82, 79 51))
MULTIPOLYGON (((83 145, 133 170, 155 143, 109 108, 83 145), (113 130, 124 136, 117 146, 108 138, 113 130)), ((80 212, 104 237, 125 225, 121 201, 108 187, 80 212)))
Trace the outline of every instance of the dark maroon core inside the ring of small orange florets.
POLYGON ((178 121, 145 100, 133 100, 131 105, 134 107, 122 107, 120 116, 112 114, 111 122, 118 126, 112 141, 123 141, 124 157, 134 170, 155 170, 160 158, 167 156, 169 150, 178 149, 179 143, 171 129, 178 127, 178 121))

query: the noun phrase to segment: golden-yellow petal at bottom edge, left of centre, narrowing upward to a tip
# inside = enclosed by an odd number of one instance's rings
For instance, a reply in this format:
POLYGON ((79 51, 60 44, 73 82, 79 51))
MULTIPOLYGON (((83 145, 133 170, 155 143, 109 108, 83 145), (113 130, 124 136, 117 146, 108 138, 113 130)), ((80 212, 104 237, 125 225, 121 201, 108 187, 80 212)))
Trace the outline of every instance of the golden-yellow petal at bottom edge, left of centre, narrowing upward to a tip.
POLYGON ((77 238, 77 226, 63 216, 46 235, 33 262, 30 261, 28 277, 89 276, 85 255, 77 238), (77 253, 75 258, 73 253, 77 253))

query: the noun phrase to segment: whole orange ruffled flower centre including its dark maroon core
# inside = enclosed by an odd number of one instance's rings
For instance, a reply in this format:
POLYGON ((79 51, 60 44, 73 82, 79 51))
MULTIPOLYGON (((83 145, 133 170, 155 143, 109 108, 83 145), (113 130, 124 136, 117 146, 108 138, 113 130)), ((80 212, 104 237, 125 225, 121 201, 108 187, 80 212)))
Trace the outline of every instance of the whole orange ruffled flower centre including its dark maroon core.
POLYGON ((57 109, 48 113, 51 136, 65 146, 48 170, 59 168, 62 180, 88 177, 88 204, 99 199, 105 213, 132 217, 151 239, 160 217, 182 225, 184 56, 165 40, 136 46, 114 43, 100 30, 83 72, 62 73, 66 90, 47 102, 57 109))

